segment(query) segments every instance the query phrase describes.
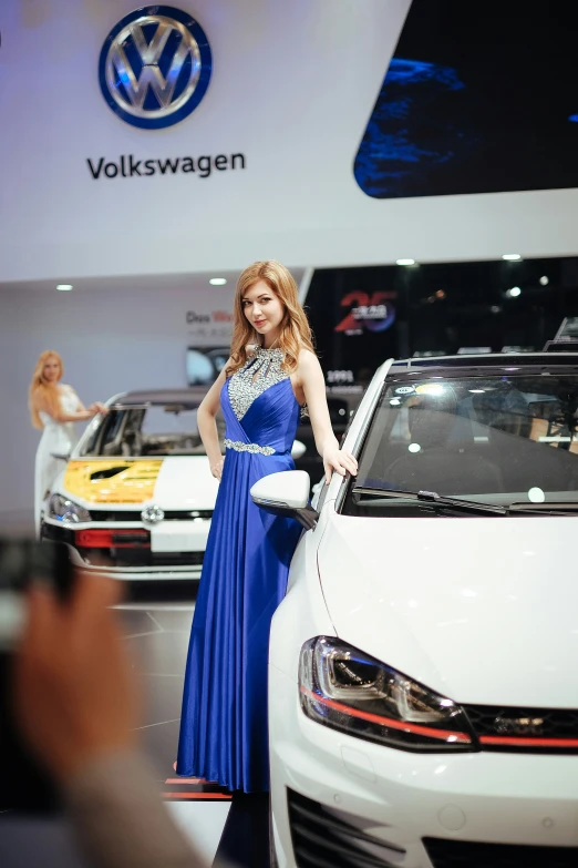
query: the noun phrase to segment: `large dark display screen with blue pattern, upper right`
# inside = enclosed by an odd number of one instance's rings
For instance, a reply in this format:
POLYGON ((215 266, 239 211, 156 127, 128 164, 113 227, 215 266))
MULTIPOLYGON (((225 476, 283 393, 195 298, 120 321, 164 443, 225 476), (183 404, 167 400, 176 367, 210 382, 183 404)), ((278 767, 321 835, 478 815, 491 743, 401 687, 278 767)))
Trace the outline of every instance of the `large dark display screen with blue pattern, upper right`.
POLYGON ((354 164, 370 196, 578 186, 578 3, 414 0, 354 164))

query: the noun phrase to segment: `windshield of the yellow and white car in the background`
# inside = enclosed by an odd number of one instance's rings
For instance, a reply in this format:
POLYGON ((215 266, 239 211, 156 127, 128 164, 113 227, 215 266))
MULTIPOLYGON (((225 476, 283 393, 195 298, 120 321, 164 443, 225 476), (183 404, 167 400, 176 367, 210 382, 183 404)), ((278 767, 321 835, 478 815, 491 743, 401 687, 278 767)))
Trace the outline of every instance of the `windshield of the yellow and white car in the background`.
POLYGON ((86 458, 204 456, 197 408, 172 404, 113 408, 84 443, 81 455, 86 458))

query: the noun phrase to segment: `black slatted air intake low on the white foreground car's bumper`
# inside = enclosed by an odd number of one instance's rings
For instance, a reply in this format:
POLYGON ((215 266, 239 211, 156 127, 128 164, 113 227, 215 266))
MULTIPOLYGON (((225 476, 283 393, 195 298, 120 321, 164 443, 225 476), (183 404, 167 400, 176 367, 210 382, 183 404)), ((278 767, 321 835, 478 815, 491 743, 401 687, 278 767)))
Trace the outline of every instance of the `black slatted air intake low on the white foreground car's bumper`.
POLYGON ((287 798, 298 868, 399 868, 405 850, 368 835, 354 825, 355 817, 348 823, 292 789, 287 798))

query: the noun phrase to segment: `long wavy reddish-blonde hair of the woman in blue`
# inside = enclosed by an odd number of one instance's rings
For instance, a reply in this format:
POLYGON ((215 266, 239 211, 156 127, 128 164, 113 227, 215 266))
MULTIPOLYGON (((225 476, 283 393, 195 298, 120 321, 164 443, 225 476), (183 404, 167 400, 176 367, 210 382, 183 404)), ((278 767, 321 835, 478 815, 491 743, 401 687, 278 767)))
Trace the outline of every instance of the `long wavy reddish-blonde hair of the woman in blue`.
POLYGON ((252 265, 245 268, 237 280, 233 309, 231 361, 227 367, 227 377, 235 374, 247 361, 247 345, 260 343, 260 336, 245 316, 242 307, 245 294, 258 280, 265 280, 285 308, 279 338, 276 341, 285 355, 283 369, 289 374, 295 371, 301 349, 306 348, 314 353, 311 327, 299 300, 299 293, 292 274, 276 259, 252 263, 252 265))

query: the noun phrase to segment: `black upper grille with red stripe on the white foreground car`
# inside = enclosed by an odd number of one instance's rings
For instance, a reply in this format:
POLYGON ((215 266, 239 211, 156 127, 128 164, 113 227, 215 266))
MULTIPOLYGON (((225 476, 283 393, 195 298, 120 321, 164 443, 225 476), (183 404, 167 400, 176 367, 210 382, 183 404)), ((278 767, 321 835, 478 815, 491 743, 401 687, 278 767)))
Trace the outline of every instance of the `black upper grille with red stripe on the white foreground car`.
POLYGON ((578 711, 463 706, 483 750, 578 753, 578 711))

